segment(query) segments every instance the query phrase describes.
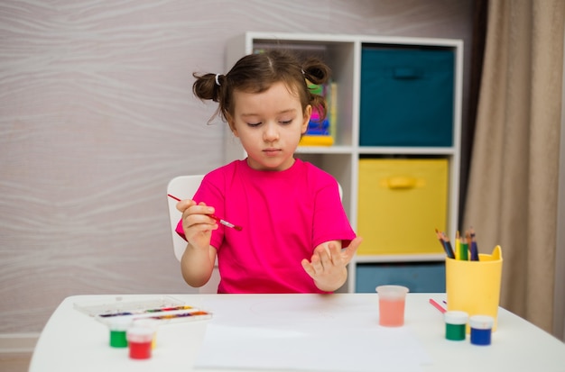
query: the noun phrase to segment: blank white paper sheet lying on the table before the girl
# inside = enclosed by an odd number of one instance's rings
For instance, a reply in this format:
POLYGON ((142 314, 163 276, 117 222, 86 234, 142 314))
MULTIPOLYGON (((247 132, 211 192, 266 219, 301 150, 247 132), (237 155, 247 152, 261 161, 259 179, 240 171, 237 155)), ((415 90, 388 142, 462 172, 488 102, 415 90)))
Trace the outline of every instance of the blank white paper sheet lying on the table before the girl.
POLYGON ((195 367, 416 372, 424 363, 431 359, 406 327, 210 323, 195 367))

